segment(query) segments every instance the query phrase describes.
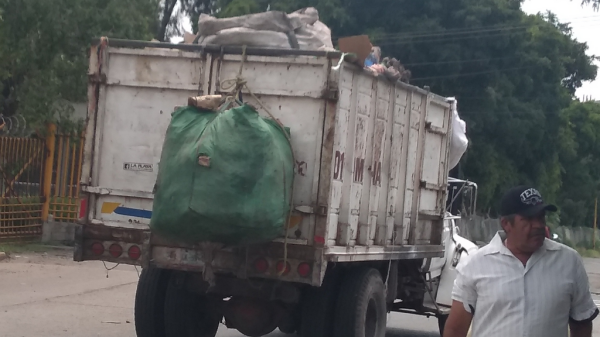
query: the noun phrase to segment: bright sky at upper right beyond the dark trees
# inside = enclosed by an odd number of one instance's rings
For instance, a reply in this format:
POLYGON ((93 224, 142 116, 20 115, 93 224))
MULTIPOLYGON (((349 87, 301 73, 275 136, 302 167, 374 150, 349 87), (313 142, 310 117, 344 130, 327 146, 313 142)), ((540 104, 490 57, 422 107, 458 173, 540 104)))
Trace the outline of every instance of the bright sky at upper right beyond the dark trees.
MULTIPOLYGON (((588 55, 600 56, 600 12, 595 12, 591 5, 582 7, 580 0, 525 0, 522 9, 528 14, 551 11, 560 22, 570 22, 573 37, 587 42, 588 55)), ((600 66, 600 62, 596 61, 596 64, 600 66)), ((591 96, 600 100, 600 76, 599 80, 585 82, 576 95, 580 99, 591 96)))

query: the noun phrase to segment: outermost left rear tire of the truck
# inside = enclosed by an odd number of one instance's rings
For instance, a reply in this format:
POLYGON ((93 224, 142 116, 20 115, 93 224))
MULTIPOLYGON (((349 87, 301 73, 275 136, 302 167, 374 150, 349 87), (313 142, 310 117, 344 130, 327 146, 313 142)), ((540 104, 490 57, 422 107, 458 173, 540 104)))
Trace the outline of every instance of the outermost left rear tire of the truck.
POLYGON ((165 293, 169 271, 156 267, 142 270, 135 292, 134 323, 137 337, 165 337, 165 293))

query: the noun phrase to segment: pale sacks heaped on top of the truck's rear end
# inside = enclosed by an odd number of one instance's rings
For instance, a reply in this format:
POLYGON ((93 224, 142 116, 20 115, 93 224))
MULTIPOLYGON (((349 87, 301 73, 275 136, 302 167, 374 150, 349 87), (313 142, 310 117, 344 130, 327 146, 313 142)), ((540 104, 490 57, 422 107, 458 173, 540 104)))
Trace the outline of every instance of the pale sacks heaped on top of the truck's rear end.
POLYGON ((268 11, 223 19, 202 14, 198 34, 200 45, 335 50, 331 30, 319 21, 319 12, 313 7, 291 14, 268 11))

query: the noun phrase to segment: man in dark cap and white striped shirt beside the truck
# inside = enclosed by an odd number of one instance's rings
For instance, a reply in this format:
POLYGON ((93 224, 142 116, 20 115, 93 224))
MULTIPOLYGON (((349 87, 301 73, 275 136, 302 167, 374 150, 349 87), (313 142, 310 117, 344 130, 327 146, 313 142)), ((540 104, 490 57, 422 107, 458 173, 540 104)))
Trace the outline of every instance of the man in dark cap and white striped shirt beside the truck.
POLYGON ((504 231, 470 257, 452 292, 444 337, 591 337, 598 308, 581 257, 546 239, 543 202, 530 187, 509 190, 500 205, 504 231))

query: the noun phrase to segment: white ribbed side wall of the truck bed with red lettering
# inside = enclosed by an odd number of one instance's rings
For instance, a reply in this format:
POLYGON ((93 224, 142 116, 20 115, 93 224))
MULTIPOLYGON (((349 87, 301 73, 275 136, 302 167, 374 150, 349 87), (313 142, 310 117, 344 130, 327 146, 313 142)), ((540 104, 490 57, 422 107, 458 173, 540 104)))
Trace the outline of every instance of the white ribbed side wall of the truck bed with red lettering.
POLYGON ((366 247, 372 258, 409 244, 441 254, 448 107, 425 90, 340 68, 326 254, 366 247))

